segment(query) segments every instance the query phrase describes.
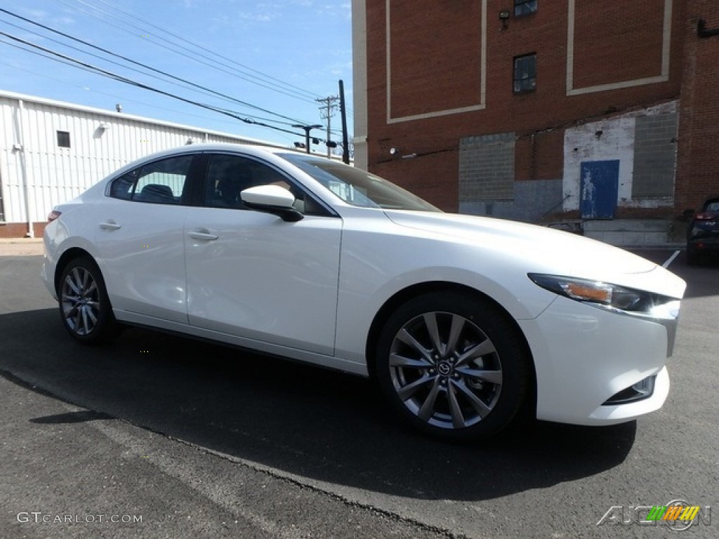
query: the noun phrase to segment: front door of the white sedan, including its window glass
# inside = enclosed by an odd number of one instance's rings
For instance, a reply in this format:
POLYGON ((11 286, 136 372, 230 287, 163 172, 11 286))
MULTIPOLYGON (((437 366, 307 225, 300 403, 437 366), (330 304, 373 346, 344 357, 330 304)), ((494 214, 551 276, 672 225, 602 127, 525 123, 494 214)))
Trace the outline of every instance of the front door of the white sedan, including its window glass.
POLYGON ((297 187, 262 162, 210 156, 204 206, 191 208, 185 226, 189 321, 333 354, 342 219, 288 223, 244 208, 243 189, 269 184, 297 187))

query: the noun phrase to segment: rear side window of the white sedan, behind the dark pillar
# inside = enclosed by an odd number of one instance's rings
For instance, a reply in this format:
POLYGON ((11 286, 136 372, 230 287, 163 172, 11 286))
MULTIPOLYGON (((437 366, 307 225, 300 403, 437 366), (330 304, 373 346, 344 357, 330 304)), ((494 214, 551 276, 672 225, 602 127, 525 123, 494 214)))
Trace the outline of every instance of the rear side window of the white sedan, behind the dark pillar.
POLYGON ((144 165, 114 180, 110 196, 153 204, 180 204, 192 155, 170 157, 144 165))

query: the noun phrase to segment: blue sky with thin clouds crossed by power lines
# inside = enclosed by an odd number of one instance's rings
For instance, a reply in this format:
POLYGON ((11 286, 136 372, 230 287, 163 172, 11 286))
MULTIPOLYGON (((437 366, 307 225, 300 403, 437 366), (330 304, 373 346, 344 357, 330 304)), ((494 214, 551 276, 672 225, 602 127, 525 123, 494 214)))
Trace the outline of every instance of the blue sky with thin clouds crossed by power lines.
MULTIPOLYGON (((246 104, 177 86, 180 83, 157 73, 160 78, 153 78, 144 68, 2 11, 0 32, 293 133, 303 132, 291 124, 326 125, 315 99, 338 96, 338 80, 342 79, 351 137, 350 6, 350 0, 0 0, 0 9, 246 104)), ((28 50, 40 52, 0 35, 0 90, 108 110, 122 103, 127 114, 280 144, 303 139, 127 86, 28 50)), ((331 124, 332 138, 339 139, 339 111, 331 124)), ((312 134, 326 138, 321 129, 312 134)), ((324 145, 316 149, 325 151, 324 145)))

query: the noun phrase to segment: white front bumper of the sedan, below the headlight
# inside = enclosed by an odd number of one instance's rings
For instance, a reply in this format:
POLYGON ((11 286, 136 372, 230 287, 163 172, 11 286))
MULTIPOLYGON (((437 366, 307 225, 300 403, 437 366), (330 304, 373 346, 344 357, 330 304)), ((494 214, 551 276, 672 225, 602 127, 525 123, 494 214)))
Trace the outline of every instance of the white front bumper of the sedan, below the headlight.
POLYGON ((678 303, 649 318, 559 297, 537 318, 518 321, 534 358, 537 418, 610 425, 658 410, 669 393, 664 364, 678 314, 678 303), (646 395, 614 403, 649 377, 646 395))

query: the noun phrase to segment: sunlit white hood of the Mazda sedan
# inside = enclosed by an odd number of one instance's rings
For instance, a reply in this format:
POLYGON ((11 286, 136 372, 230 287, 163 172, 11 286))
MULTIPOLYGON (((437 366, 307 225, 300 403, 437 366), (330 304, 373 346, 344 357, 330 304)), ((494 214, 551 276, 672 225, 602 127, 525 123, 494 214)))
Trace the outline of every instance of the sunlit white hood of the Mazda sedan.
POLYGON ((495 259, 521 264, 526 272, 613 282, 682 298, 686 283, 636 254, 601 241, 544 226, 452 213, 385 211, 399 226, 476 246, 495 259))

